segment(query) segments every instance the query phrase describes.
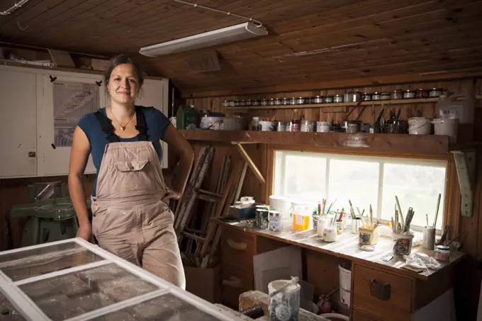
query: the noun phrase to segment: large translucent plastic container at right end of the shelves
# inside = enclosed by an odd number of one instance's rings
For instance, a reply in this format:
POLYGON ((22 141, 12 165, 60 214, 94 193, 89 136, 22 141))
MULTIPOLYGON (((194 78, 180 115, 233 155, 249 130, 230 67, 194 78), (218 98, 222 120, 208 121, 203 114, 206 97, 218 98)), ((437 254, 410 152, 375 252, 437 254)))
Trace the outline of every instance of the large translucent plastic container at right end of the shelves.
POLYGON ((461 124, 473 124, 475 99, 464 95, 440 96, 435 118, 459 118, 461 124))

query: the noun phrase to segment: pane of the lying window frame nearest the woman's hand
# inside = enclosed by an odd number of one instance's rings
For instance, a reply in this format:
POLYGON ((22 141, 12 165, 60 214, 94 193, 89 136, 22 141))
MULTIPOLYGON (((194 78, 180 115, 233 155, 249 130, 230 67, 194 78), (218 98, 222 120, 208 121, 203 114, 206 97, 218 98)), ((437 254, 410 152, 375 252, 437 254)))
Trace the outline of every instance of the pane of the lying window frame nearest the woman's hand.
POLYGON ((18 281, 102 260, 85 247, 67 242, 0 255, 0 270, 18 281))

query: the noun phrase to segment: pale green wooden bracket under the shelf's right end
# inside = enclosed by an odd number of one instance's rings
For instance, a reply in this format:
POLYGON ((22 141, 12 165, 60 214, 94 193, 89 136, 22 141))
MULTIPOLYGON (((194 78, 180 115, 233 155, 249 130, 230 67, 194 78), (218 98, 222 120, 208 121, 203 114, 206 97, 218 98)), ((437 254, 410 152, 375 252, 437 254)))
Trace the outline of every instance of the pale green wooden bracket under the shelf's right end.
POLYGON ((470 218, 473 208, 473 188, 476 174, 476 150, 452 150, 461 193, 461 215, 470 218))

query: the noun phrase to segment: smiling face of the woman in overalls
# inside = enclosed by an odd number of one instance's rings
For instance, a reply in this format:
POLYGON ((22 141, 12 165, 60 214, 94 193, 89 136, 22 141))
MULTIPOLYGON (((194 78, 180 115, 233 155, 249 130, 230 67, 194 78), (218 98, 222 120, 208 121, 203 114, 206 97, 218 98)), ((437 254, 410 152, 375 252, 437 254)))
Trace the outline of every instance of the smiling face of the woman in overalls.
POLYGON ((132 64, 119 64, 112 70, 108 81, 111 99, 120 104, 133 103, 138 96, 140 84, 132 64))

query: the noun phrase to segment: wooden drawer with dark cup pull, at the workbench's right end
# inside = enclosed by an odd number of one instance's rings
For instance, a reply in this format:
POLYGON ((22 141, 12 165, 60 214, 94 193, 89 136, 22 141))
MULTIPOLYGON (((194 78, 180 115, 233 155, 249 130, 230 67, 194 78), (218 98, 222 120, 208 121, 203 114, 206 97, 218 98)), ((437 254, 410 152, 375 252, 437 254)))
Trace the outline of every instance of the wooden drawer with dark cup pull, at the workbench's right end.
MULTIPOLYGON (((413 300, 413 279, 368 266, 354 264, 353 308, 380 320, 410 320, 413 300), (386 298, 371 293, 372 284, 386 285, 386 298)), ((363 320, 363 319, 361 319, 363 320)))

